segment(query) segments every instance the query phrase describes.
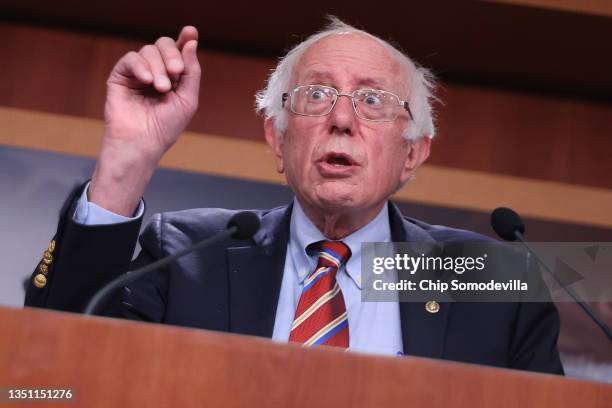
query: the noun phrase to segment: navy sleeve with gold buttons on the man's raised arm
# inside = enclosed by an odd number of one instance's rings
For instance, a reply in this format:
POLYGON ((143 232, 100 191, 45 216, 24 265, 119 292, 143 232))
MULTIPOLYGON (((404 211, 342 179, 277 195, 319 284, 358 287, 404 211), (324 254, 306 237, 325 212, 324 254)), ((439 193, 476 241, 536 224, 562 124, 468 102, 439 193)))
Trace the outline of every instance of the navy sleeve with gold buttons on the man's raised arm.
MULTIPOLYGON (((26 306, 82 312, 98 289, 130 267, 142 216, 111 225, 75 222, 72 215, 85 186, 75 188, 60 211, 57 231, 27 286, 26 306)), ((138 262, 148 257, 144 253, 138 262)))

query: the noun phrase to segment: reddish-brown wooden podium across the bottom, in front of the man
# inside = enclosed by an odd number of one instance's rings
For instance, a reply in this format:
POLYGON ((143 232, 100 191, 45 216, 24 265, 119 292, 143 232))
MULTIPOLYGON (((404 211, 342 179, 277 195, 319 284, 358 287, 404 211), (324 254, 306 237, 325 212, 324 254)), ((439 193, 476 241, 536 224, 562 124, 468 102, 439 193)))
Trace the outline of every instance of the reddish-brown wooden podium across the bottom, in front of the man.
POLYGON ((547 374, 40 309, 0 324, 0 388, 72 390, 53 406, 612 407, 612 386, 547 374))

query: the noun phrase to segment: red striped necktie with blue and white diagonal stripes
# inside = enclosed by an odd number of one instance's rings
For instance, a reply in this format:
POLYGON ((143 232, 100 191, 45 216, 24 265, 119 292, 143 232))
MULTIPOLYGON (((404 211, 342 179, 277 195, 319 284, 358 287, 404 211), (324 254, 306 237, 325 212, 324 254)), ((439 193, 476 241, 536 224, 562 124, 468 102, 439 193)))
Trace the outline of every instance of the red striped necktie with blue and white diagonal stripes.
POLYGON ((321 241, 315 245, 319 262, 304 280, 289 341, 304 346, 348 348, 346 306, 336 273, 351 256, 351 250, 340 241, 321 241))

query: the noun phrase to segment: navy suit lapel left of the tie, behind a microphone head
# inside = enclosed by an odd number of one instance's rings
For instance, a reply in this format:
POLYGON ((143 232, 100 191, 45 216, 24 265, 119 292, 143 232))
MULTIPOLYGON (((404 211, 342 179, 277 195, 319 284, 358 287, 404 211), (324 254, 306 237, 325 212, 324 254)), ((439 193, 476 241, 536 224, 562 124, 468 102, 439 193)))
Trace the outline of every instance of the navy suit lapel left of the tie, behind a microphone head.
POLYGON ((230 332, 272 337, 291 210, 265 214, 254 245, 227 249, 230 332))

